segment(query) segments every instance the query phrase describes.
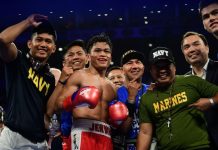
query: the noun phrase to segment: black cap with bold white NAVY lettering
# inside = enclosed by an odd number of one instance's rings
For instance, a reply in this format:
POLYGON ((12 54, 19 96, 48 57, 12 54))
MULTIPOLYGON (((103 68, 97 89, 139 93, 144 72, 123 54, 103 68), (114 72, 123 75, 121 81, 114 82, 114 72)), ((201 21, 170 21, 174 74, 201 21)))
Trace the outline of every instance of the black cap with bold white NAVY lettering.
POLYGON ((167 60, 171 63, 175 64, 174 57, 172 51, 170 51, 166 47, 156 47, 152 49, 148 56, 149 64, 155 64, 159 60, 167 60))

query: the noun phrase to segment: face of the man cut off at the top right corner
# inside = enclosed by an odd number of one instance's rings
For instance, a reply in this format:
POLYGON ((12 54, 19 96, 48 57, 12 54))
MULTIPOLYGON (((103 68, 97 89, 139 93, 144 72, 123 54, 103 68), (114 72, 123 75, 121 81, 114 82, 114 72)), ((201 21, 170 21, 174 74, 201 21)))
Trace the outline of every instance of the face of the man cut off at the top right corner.
POLYGON ((204 28, 212 34, 218 35, 218 4, 210 4, 201 10, 204 28))

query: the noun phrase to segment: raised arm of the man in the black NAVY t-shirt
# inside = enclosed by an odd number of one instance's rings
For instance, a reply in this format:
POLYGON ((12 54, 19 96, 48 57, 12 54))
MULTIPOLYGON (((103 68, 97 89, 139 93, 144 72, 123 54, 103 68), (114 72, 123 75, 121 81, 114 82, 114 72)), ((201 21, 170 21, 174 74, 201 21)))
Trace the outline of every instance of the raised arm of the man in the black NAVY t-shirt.
POLYGON ((25 20, 12 25, 0 33, 0 58, 4 62, 11 62, 17 57, 17 48, 13 43, 15 39, 28 27, 38 26, 46 16, 33 14, 25 20))

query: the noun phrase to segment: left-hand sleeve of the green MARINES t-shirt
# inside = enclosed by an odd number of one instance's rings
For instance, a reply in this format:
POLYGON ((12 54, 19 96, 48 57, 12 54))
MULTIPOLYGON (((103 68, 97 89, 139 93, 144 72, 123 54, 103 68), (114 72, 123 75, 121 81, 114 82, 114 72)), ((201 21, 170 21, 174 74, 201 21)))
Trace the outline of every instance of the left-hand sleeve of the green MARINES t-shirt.
POLYGON ((148 100, 148 96, 147 94, 144 94, 139 104, 139 122, 140 123, 152 123, 151 115, 147 107, 148 105, 146 105, 146 100, 148 100))

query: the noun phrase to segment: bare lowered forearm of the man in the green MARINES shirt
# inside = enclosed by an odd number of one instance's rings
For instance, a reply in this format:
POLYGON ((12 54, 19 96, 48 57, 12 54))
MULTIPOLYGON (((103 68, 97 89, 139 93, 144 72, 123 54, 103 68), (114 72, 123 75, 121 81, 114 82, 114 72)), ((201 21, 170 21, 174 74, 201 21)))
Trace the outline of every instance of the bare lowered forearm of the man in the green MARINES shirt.
POLYGON ((152 139, 152 124, 141 123, 139 127, 139 134, 137 138, 137 150, 149 150, 152 139))

